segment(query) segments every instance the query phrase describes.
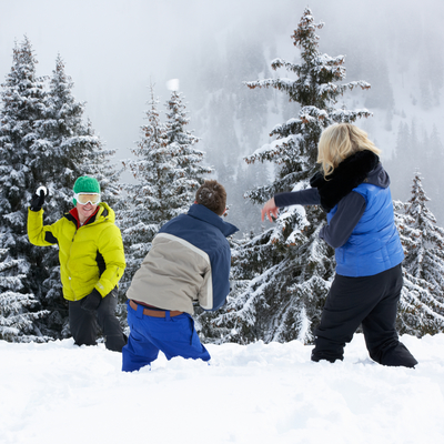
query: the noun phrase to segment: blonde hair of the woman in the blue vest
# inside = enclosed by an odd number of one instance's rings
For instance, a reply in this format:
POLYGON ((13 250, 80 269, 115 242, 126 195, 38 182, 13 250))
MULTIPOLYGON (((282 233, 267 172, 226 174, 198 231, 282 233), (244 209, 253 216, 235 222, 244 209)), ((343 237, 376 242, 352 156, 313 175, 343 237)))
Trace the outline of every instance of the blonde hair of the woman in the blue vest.
POLYGON ((381 150, 369 140, 367 133, 351 123, 335 123, 322 131, 317 144, 317 163, 324 176, 331 174, 346 158, 369 150, 380 155, 381 150))

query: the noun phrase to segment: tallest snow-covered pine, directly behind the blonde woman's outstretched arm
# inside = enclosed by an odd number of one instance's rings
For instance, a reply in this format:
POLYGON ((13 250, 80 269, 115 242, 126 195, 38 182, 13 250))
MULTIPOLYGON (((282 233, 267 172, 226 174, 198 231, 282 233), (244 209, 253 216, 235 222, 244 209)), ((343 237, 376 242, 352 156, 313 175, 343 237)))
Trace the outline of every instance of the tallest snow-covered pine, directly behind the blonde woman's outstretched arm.
MULTIPOLYGON (((353 122, 369 117, 366 110, 334 108, 337 98, 355 87, 369 89, 366 82, 336 84, 345 78, 344 57, 331 58, 319 52, 315 23, 305 9, 293 34, 301 49, 301 63, 281 59, 272 61, 273 70, 285 68, 296 74, 287 78, 248 82, 251 89, 274 88, 301 105, 297 117, 276 125, 276 140, 256 150, 248 163, 270 161, 279 171, 271 184, 248 192, 255 203, 274 193, 307 186, 316 171, 317 141, 324 128, 333 122, 353 122)), ((325 216, 317 208, 284 209, 272 229, 243 240, 233 252, 233 292, 223 311, 201 319, 202 334, 209 341, 248 343, 254 340, 311 342, 312 329, 334 273, 333 251, 317 238, 325 216)))

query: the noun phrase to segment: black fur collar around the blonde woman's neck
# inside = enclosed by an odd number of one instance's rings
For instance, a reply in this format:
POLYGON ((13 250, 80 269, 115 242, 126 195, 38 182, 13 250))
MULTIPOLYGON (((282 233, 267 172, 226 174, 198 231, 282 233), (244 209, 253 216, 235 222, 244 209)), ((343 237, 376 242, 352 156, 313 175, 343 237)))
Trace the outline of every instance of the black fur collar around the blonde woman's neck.
POLYGON ((314 174, 310 179, 310 185, 317 188, 323 210, 330 212, 341 199, 365 181, 379 162, 380 158, 374 152, 369 150, 357 151, 344 159, 326 178, 322 172, 314 174))

